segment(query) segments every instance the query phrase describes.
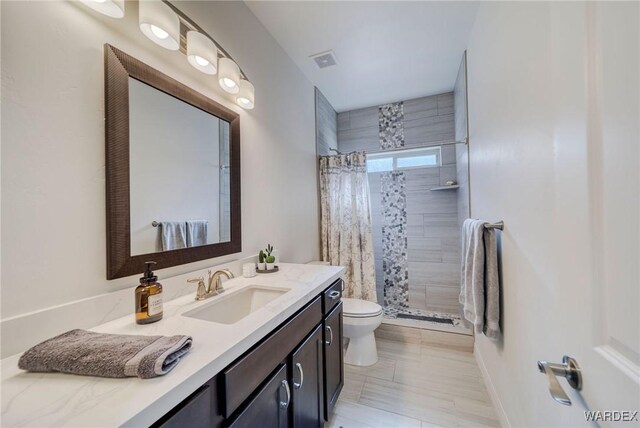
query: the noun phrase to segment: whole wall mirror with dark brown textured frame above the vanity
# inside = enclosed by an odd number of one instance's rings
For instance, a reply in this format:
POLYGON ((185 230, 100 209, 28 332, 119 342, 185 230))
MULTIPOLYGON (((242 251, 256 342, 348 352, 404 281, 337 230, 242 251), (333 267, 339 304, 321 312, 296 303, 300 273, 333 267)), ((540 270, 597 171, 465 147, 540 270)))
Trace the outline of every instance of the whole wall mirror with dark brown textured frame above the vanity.
POLYGON ((104 55, 107 279, 240 252, 239 115, 111 45, 104 55))

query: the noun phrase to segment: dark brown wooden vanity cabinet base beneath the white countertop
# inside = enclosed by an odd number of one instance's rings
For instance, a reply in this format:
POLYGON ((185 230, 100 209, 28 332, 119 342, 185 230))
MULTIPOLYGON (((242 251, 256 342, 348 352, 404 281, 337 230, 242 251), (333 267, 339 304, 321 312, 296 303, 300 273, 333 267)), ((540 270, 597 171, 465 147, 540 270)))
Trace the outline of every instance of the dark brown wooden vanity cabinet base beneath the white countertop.
POLYGON ((341 292, 332 283, 153 426, 322 428, 344 383, 341 292))

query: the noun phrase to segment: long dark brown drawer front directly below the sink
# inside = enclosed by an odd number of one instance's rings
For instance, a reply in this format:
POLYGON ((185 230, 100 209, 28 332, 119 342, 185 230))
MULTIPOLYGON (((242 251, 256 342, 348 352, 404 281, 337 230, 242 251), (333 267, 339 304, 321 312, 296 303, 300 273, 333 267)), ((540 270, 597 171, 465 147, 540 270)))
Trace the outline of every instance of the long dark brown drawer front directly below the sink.
POLYGON ((229 417, 235 412, 321 321, 322 304, 318 296, 273 334, 227 367, 220 379, 223 416, 229 417))

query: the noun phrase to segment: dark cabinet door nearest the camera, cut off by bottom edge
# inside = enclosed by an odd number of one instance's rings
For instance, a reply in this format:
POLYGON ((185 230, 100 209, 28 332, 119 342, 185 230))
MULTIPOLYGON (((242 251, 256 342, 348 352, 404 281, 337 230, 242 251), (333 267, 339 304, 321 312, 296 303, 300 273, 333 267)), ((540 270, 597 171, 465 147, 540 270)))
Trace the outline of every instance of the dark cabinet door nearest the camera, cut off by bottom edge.
POLYGON ((233 420, 233 428, 286 428, 289 425, 291 389, 287 366, 282 364, 249 404, 233 420))

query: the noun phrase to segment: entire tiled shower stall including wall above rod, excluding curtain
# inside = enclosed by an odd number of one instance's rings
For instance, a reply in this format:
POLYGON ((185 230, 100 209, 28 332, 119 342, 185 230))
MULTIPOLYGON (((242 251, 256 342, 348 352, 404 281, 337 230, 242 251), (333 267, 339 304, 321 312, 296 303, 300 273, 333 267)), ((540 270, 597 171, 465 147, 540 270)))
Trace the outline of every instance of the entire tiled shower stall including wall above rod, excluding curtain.
POLYGON ((468 150, 453 92, 337 114, 342 153, 364 151, 384 321, 471 334, 460 318, 468 150))

